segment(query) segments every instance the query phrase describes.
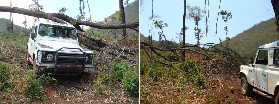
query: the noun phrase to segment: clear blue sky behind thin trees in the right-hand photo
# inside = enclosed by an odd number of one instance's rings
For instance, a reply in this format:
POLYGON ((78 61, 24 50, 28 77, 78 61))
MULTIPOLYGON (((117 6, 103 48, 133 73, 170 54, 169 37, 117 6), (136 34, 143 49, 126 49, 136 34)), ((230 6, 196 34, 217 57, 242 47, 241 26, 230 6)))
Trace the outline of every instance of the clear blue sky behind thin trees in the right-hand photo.
MULTIPOLYGON (((204 10, 204 0, 187 0, 187 5, 188 4, 190 6, 200 6, 200 8, 204 10)), ((152 13, 152 1, 144 0, 142 8, 143 11, 140 13, 140 32, 144 36, 148 36, 148 23, 151 24, 148 17, 151 16, 152 13)), ((225 40, 226 37, 225 31, 223 30, 225 22, 222 20, 221 15, 219 15, 217 24, 218 34, 214 37, 219 0, 209 0, 209 8, 210 10, 208 13, 208 7, 206 7, 206 12, 209 14, 209 31, 207 37, 205 37, 204 34, 201 43, 219 43, 219 37, 221 37, 222 41, 225 40)), ((222 0, 220 11, 227 10, 232 13, 232 19, 228 21, 228 37, 235 37, 237 34, 249 29, 253 25, 273 18, 274 12, 269 11, 271 13, 269 14, 267 9, 273 10, 270 0, 222 0)), ((188 11, 186 13, 188 13, 188 11)), ((179 33, 180 29, 183 27, 183 0, 154 0, 153 14, 161 16, 160 20, 168 23, 169 27, 164 27, 163 29, 167 39, 171 40, 172 37, 175 39, 175 37, 177 37, 176 33, 179 33)), ((186 19, 186 26, 189 27, 186 31, 186 42, 195 44, 194 21, 186 19)), ((205 17, 199 22, 199 27, 202 32, 206 30, 205 17)), ((159 29, 153 30, 155 34, 153 38, 155 40, 158 40, 158 32, 159 29)), ((178 42, 178 40, 176 41, 178 42)))

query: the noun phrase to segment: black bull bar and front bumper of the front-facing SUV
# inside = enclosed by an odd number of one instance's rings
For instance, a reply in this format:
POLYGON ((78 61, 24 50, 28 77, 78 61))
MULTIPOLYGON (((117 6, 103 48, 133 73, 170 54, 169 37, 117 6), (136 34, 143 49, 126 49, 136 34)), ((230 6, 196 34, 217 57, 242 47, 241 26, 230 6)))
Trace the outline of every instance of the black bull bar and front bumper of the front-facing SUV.
MULTIPOLYGON (((95 58, 95 55, 96 53, 93 53, 93 60, 92 60, 92 63, 91 64, 86 64, 86 52, 85 51, 82 51, 81 49, 79 48, 60 48, 56 51, 44 51, 44 50, 38 50, 37 51, 37 58, 36 58, 36 62, 39 63, 39 64, 53 64, 54 67, 42 67, 42 66, 39 66, 38 69, 41 69, 43 71, 46 71, 46 72, 84 72, 84 69, 85 69, 85 66, 93 66, 94 65, 94 58, 95 58), (58 55, 58 52, 61 50, 61 49, 77 49, 77 50, 80 50, 80 52, 83 53, 83 56, 82 57, 77 57, 77 56, 59 56, 58 55), (55 59, 54 59, 54 62, 53 63, 44 63, 44 62, 41 62, 40 59, 42 59, 42 55, 39 55, 39 51, 40 52, 55 52, 55 59), (38 57, 40 56, 40 57, 38 57), (82 60, 82 65, 81 67, 59 67, 58 65, 58 58, 59 59, 67 59, 67 60, 82 60), (39 61, 40 60, 40 61, 39 61)), ((91 55, 91 54, 90 54, 91 55)), ((67 64, 63 64, 63 66, 67 66, 67 64)))

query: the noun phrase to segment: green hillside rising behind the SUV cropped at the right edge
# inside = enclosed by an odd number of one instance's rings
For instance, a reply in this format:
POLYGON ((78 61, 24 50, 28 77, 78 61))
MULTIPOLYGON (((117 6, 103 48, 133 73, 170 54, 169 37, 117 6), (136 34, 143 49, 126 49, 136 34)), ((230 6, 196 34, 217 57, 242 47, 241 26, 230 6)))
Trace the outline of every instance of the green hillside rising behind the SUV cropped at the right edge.
MULTIPOLYGON (((228 41, 228 48, 236 50, 246 58, 255 58, 259 46, 278 40, 275 22, 275 18, 271 18, 243 31, 228 41)), ((226 41, 220 44, 225 46, 226 41)))

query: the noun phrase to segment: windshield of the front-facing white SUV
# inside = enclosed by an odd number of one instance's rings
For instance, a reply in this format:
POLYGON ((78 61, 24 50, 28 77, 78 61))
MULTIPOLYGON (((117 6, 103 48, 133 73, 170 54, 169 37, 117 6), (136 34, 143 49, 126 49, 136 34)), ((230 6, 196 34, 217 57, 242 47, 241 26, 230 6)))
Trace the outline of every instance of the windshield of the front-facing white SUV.
POLYGON ((38 33, 41 36, 77 38, 76 29, 71 27, 40 24, 38 33))

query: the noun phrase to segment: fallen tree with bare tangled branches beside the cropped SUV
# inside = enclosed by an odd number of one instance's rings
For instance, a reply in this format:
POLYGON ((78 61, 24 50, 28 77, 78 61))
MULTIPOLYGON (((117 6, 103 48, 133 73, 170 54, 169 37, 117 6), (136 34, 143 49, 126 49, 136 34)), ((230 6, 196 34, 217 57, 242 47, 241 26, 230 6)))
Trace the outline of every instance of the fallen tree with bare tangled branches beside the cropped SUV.
MULTIPOLYGON (((164 56, 158 53, 157 51, 172 52, 172 54, 184 60, 185 57, 179 55, 179 53, 181 53, 182 51, 196 53, 201 56, 201 59, 196 60, 196 63, 198 64, 197 66, 201 66, 201 65, 204 66, 207 73, 221 72, 221 71, 235 73, 238 71, 239 65, 244 64, 243 56, 240 56, 236 51, 230 48, 226 48, 220 44, 215 44, 215 43, 184 45, 177 48, 163 49, 163 48, 150 45, 146 42, 140 42, 140 47, 144 49, 148 57, 153 61, 159 62, 163 65, 172 68, 175 68, 173 64, 180 64, 183 66, 185 62, 183 63, 183 62, 171 60, 167 56, 164 56), (209 48, 202 48, 200 47, 200 45, 207 46, 209 48), (146 48, 150 48, 152 52, 154 52, 155 55, 157 55, 157 57, 161 57, 164 60, 161 60, 160 58, 156 58, 146 48), (198 49, 200 49, 200 52, 197 51, 198 49)), ((189 70, 186 67, 184 68, 185 71, 189 70)))

